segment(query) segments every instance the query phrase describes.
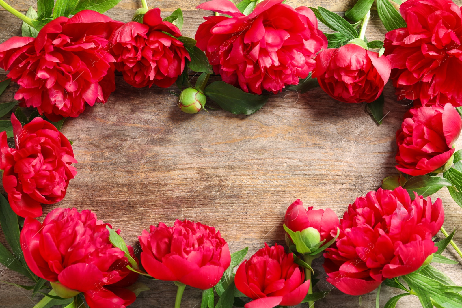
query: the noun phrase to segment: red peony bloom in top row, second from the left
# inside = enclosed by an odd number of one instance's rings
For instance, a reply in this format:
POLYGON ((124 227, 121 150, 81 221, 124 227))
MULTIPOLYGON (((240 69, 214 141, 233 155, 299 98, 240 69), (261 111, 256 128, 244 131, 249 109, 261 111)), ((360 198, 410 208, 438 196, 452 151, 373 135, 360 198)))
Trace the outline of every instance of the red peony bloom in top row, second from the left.
POLYGON ((183 43, 173 36, 181 36, 180 30, 162 21, 158 8, 147 11, 142 24, 124 24, 112 38, 116 69, 134 87, 170 87, 183 72, 185 59, 191 60, 183 43))

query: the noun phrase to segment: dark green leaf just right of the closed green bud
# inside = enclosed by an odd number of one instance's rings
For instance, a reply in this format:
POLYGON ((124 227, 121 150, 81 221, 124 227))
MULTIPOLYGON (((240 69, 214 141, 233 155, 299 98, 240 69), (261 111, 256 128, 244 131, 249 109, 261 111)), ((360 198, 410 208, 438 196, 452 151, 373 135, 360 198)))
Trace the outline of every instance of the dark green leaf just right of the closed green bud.
POLYGON ((221 108, 235 115, 251 115, 261 109, 269 98, 269 95, 246 93, 224 81, 211 83, 204 93, 221 108))

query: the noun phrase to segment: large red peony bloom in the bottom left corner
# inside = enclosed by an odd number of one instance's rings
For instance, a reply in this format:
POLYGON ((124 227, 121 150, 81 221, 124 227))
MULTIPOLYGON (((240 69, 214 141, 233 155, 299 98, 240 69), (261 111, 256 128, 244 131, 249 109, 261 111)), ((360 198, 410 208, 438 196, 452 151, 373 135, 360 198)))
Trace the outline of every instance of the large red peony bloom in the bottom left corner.
POLYGON ((54 209, 43 223, 26 217, 20 236, 24 259, 61 297, 83 292, 90 308, 125 308, 136 296, 114 284, 128 276, 128 260, 109 242, 106 226, 112 228, 75 208, 54 209))

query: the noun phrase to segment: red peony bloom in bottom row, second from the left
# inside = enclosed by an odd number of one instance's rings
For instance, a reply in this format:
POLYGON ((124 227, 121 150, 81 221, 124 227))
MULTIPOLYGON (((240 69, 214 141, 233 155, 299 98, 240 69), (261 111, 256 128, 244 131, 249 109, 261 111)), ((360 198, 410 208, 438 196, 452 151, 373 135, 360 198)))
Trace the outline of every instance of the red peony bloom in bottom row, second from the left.
POLYGON ((149 229, 138 239, 141 264, 154 278, 207 290, 231 264, 228 244, 213 227, 176 220, 173 227, 159 223, 149 229))

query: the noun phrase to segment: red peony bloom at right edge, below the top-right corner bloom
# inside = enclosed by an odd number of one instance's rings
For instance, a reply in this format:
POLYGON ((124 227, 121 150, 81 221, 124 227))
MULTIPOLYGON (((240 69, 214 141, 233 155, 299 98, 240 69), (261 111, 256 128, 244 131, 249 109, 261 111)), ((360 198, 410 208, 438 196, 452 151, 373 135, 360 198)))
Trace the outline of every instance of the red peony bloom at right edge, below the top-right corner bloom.
POLYGON ((456 151, 461 131, 462 119, 450 103, 410 109, 396 132, 396 169, 408 175, 440 169, 456 151))

